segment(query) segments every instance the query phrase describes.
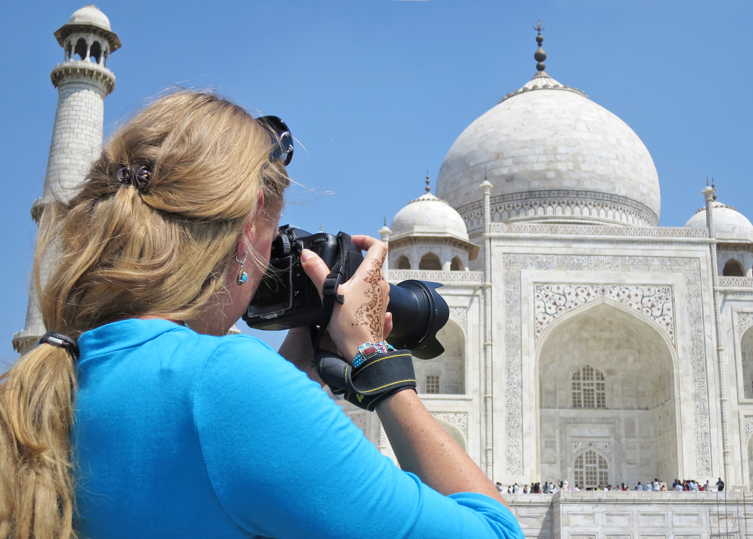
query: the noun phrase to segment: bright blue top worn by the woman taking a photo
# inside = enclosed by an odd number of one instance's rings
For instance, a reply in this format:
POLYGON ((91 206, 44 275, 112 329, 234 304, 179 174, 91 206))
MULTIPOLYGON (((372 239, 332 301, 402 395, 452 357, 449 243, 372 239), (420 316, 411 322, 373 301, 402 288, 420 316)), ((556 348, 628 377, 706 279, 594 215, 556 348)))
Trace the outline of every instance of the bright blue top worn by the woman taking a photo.
POLYGON ((252 336, 131 319, 78 345, 81 537, 523 537, 492 498, 400 470, 252 336))

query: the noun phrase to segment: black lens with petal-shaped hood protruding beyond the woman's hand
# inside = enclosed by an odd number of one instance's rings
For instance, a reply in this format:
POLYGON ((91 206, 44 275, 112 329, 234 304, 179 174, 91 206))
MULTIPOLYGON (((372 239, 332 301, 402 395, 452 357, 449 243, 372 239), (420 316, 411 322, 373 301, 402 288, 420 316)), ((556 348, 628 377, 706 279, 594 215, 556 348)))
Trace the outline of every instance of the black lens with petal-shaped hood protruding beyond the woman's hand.
POLYGON ((437 331, 447 324, 450 308, 437 293, 438 282, 409 279, 389 285, 389 305, 392 312, 392 333, 387 342, 396 349, 410 349, 419 359, 436 358, 444 352, 437 340, 437 331))

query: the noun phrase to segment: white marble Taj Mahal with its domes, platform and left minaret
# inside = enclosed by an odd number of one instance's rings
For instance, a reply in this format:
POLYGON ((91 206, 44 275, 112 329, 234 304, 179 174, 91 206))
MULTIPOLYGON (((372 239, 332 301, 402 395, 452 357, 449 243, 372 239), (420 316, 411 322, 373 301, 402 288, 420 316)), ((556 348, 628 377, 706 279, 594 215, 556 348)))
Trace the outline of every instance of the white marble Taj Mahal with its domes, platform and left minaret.
MULTIPOLYGON (((120 47, 94 6, 55 35, 64 58, 35 219, 101 145, 120 47)), ((753 224, 699 183, 685 226, 659 227, 648 149, 547 75, 536 41, 533 78, 459 134, 435 194, 427 177, 379 230, 388 280, 440 282, 450 306, 444 354, 413 361, 419 396, 493 481, 581 486, 506 495, 526 536, 753 534, 753 224), (725 492, 633 490, 720 477, 725 492), (630 491, 597 490, 621 483, 630 491)), ((14 347, 42 333, 32 291, 14 347)), ((376 413, 340 405, 394 458, 376 413)))

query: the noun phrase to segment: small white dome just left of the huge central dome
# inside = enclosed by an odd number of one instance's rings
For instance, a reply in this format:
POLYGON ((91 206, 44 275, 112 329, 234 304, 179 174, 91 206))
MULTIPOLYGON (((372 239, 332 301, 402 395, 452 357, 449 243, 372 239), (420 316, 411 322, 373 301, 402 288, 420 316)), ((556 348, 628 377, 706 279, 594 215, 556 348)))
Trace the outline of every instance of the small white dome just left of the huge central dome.
POLYGON ((431 193, 411 200, 395 215, 390 228, 390 241, 403 236, 452 236, 468 242, 468 230, 460 214, 431 193))

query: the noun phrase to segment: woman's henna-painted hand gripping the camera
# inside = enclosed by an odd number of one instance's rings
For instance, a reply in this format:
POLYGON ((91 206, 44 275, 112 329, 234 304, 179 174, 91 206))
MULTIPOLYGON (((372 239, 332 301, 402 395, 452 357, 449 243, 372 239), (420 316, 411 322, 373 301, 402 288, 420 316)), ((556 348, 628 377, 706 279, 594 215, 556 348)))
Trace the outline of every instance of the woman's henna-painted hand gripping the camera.
MULTIPOLYGON (((367 341, 383 341, 392 330, 392 315, 386 312, 389 283, 382 270, 387 246, 370 236, 352 236, 351 240, 366 251, 366 256, 355 275, 340 285, 337 294, 341 294, 345 301, 343 305, 335 303, 328 326, 332 340, 346 361, 355 358, 358 346, 367 341)), ((308 249, 303 249, 300 260, 322 297, 322 286, 330 273, 327 264, 308 249)))

